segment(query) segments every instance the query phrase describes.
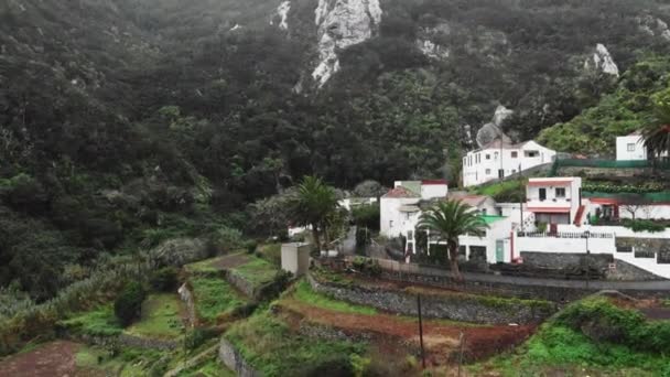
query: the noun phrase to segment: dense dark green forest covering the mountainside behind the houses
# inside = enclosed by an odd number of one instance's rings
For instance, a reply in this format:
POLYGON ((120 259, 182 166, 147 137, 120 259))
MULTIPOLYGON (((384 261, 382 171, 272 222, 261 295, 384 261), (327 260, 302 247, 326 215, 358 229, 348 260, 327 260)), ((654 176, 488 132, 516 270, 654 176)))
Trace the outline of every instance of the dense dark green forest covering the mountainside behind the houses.
POLYGON ((662 1, 385 0, 339 72, 302 90, 317 1, 292 1, 287 29, 279 3, 0 3, 0 286, 45 300, 163 239, 258 230, 249 204, 305 174, 457 182, 465 126, 498 105, 517 139, 561 123, 541 140, 593 151, 667 86, 662 1), (585 68, 598 43, 620 77, 585 68))

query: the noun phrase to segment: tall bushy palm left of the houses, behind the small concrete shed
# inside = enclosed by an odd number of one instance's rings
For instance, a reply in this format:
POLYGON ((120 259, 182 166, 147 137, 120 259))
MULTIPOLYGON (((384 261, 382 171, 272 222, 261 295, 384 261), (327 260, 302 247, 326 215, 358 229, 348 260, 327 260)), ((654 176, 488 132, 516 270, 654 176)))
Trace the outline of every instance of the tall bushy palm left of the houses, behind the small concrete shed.
POLYGON ((321 250, 320 230, 327 243, 327 222, 337 209, 335 190, 316 176, 305 176, 292 200, 291 217, 298 225, 312 227, 314 244, 321 250))

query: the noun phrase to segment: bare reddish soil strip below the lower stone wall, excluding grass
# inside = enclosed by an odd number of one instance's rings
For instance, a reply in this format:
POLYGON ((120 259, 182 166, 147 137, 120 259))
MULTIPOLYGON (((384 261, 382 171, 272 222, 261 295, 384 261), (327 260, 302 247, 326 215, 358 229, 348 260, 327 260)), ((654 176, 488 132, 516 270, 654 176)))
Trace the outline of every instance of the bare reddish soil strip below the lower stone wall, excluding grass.
MULTIPOLYGON (((419 324, 408 317, 379 313, 376 315, 350 314, 311 306, 292 299, 281 302, 284 312, 311 323, 336 327, 348 335, 372 334, 385 341, 393 341, 417 348, 420 344, 419 324)), ((431 364, 449 363, 460 349, 461 333, 464 335, 464 358, 480 359, 507 351, 530 336, 534 326, 467 326, 451 325, 435 320, 423 321, 423 344, 431 364)))

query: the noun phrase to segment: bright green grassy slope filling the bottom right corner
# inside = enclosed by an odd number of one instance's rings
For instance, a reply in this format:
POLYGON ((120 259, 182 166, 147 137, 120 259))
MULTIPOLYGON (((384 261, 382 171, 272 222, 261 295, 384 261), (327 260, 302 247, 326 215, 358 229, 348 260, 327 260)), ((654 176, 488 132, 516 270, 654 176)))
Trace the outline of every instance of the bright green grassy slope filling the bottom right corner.
POLYGON ((515 354, 471 368, 474 375, 670 376, 670 321, 649 322, 604 298, 573 303, 515 354), (596 341, 583 331, 609 338, 596 341))

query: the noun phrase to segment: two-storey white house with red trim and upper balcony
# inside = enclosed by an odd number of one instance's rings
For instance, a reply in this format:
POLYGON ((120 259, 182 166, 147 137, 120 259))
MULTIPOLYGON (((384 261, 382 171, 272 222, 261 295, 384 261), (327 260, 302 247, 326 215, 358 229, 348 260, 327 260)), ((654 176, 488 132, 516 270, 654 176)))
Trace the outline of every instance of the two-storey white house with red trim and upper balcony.
POLYGON ((527 211, 534 214, 537 223, 551 227, 582 223, 584 207, 582 179, 579 176, 530 179, 526 186, 526 201, 527 211))

